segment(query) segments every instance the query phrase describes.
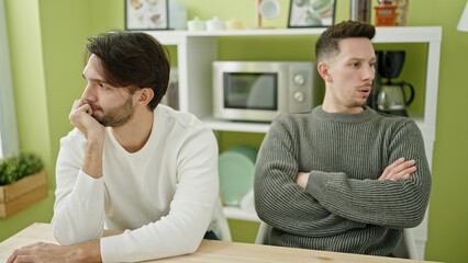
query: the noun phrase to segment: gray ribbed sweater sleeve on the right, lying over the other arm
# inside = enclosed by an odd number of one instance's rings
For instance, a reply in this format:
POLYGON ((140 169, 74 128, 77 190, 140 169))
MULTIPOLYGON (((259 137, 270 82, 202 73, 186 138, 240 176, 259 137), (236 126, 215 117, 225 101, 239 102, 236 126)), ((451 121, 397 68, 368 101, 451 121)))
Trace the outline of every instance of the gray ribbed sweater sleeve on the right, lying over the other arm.
POLYGON ((311 171, 305 191, 325 209, 350 220, 388 228, 416 227, 424 218, 431 193, 431 172, 424 141, 414 122, 395 130, 389 146, 390 165, 397 159, 416 161, 410 179, 354 180, 345 173, 311 171))

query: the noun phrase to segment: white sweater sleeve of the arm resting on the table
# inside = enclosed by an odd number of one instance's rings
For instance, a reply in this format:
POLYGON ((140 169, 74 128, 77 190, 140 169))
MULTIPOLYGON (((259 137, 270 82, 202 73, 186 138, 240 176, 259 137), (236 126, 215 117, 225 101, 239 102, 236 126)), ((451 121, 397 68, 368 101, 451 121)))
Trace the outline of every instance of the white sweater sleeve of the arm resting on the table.
POLYGON ((159 220, 100 240, 103 262, 136 262, 193 253, 219 198, 218 144, 211 130, 191 136, 179 149, 176 194, 159 220))

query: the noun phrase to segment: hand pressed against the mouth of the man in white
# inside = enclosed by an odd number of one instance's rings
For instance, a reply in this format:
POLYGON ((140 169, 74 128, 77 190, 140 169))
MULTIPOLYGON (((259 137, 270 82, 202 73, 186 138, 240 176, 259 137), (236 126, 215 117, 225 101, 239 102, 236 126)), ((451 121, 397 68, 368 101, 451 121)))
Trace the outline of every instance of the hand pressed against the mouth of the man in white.
POLYGON ((70 119, 71 125, 77 127, 81 133, 85 134, 88 140, 96 139, 103 141, 104 138, 104 126, 102 126, 92 116, 92 108, 89 104, 85 103, 82 99, 75 100, 71 107, 70 119))

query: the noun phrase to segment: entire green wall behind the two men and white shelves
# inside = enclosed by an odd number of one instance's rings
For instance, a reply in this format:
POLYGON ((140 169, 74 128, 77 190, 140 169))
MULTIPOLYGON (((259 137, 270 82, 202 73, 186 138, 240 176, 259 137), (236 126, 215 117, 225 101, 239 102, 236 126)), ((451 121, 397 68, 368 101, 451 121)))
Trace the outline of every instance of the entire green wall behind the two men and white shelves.
MULTIPOLYGON (((202 20, 218 15, 222 20, 233 16, 232 10, 242 10, 235 18, 244 25, 255 25, 254 1, 183 0, 189 19, 198 15, 202 20)), ((289 1, 278 0, 280 15, 264 25, 287 27, 289 1)), ((377 2, 377 1, 372 1, 377 2)), ((468 262, 468 172, 465 169, 468 148, 468 89, 464 77, 468 61, 468 33, 457 32, 465 0, 437 1, 411 0, 409 25, 442 25, 442 58, 437 105, 436 141, 433 160, 433 192, 428 219, 426 260, 444 262, 468 262)), ((337 20, 348 18, 349 1, 338 0, 337 20)), ((5 0, 9 42, 11 50, 13 85, 16 103, 20 147, 43 155, 48 171, 51 196, 31 208, 5 220, 0 220, 0 240, 18 232, 34 221, 52 218, 53 191, 55 188, 54 165, 58 153, 59 138, 71 125, 68 113, 73 100, 79 98, 85 87, 81 78, 82 49, 86 37, 111 28, 123 28, 123 1, 115 0, 5 0)), ((374 15, 372 15, 374 16, 374 15)), ((298 48, 288 48, 282 37, 259 39, 221 37, 220 58, 269 57, 270 59, 313 59, 314 37, 293 38, 298 48), (260 39, 260 41, 259 41, 260 39), (261 42, 267 49, 259 48, 261 42), (252 44, 252 45, 250 45, 252 44), (231 53, 232 45, 245 46, 231 53), (283 48, 286 46, 286 48, 283 48), (253 47, 253 48, 250 48, 253 47), (310 52, 309 52, 310 48, 310 52), (300 52, 298 52, 300 50, 300 52)), ((424 87, 426 46, 377 45, 380 48, 409 48, 406 70, 401 79, 424 87), (414 65, 414 66, 413 66, 414 65)), ((406 67, 405 66, 405 67, 406 67)), ((417 91, 421 94, 421 90, 417 91)), ((412 111, 424 106, 422 95, 416 96, 412 111)), ((249 133, 220 133, 220 150, 236 144, 259 147, 264 135, 249 133)), ((235 239, 252 241, 255 226, 230 220, 236 232, 235 239), (254 229, 254 230, 253 230, 254 229)))

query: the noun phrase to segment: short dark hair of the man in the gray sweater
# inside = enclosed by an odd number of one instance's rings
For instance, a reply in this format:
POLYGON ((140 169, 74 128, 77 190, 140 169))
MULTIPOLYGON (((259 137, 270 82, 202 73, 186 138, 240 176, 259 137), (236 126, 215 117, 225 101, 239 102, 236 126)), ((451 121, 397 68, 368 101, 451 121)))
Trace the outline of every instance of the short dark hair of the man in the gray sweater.
POLYGON ((349 37, 367 37, 376 35, 374 25, 359 21, 345 21, 330 26, 315 43, 315 59, 317 62, 325 57, 339 54, 339 41, 349 37))

